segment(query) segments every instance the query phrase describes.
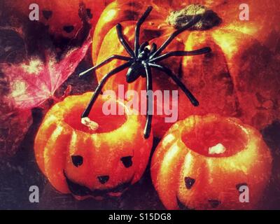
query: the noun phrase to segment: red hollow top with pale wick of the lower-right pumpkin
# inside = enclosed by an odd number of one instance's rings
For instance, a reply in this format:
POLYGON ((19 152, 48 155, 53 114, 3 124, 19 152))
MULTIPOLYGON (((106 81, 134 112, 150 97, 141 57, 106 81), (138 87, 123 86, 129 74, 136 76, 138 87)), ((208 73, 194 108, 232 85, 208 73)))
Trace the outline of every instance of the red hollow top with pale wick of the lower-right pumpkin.
POLYGON ((195 123, 182 134, 190 150, 207 157, 229 157, 242 151, 247 144, 246 133, 228 120, 195 123))

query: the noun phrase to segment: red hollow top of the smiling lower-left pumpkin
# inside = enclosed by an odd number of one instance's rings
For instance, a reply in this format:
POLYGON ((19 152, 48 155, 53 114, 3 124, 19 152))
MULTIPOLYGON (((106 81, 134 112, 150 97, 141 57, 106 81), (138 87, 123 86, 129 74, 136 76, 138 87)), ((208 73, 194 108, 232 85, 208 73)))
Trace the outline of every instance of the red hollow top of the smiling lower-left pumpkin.
POLYGON ((90 120, 98 124, 97 130, 90 130, 89 127, 81 123, 81 115, 86 106, 84 104, 77 104, 76 106, 73 106, 71 109, 69 109, 69 111, 64 115, 64 122, 70 125, 74 130, 93 134, 111 132, 118 129, 127 121, 127 116, 125 115, 125 113, 118 113, 118 107, 120 107, 121 111, 123 111, 122 104, 116 102, 116 115, 105 115, 102 111, 103 104, 103 101, 98 100, 97 102, 95 102, 94 106, 92 106, 92 110, 90 111, 90 116, 88 116, 90 120))

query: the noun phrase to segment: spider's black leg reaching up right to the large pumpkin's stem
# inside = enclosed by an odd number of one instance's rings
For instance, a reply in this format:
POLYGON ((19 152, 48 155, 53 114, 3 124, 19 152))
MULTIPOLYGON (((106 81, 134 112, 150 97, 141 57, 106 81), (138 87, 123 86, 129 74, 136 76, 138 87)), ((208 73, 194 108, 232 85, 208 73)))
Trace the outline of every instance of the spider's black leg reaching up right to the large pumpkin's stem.
POLYGON ((151 58, 156 57, 157 55, 160 55, 160 53, 162 52, 162 50, 165 50, 165 48, 167 48, 167 46, 169 45, 169 43, 171 43, 173 41, 173 39, 178 36, 179 34, 181 34, 183 31, 185 31, 186 29, 189 29, 190 27, 193 27, 193 25, 195 25, 197 22, 199 22, 202 18, 202 15, 195 15, 193 17, 192 20, 190 20, 190 22, 188 22, 188 24, 185 27, 182 27, 181 29, 178 29, 176 31, 174 31, 174 33, 169 36, 169 38, 167 38, 167 40, 165 41, 165 43, 163 43, 160 48, 158 48, 158 50, 156 52, 153 53, 153 55, 151 55, 151 58))

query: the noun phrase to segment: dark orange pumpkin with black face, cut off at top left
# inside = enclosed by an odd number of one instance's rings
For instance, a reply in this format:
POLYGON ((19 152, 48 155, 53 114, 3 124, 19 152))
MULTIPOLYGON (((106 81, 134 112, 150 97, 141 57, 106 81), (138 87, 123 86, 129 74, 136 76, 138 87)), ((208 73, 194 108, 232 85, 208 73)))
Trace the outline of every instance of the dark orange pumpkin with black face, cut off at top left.
POLYGON ((82 27, 82 21, 79 17, 80 3, 85 4, 88 18, 95 26, 102 10, 110 1, 107 0, 72 0, 72 1, 57 1, 57 0, 37 0, 37 1, 21 1, 15 0, 11 4, 15 10, 20 11, 27 17, 31 10, 29 5, 36 3, 39 6, 40 22, 48 26, 51 34, 56 36, 64 36, 73 38, 78 29, 82 27))

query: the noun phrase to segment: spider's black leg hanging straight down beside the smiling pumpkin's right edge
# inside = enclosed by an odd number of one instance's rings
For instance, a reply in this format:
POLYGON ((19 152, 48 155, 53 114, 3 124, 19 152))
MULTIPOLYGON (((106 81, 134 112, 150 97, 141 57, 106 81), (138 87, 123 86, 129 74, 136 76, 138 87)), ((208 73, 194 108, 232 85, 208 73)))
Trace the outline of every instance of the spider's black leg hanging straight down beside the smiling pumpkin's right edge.
MULTIPOLYGON (((146 82, 147 82, 147 91, 148 90, 153 90, 153 80, 152 80, 152 72, 151 72, 151 67, 148 64, 144 64, 145 70, 146 70, 146 82)), ((152 102, 149 102, 148 100, 148 92, 147 92, 147 113, 146 113, 146 125, 144 128, 144 138, 148 139, 151 134, 151 126, 152 126, 152 118, 153 114, 150 114, 153 109, 153 97, 152 97, 152 102)))

